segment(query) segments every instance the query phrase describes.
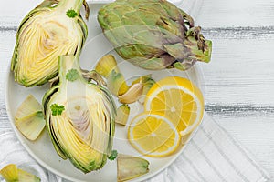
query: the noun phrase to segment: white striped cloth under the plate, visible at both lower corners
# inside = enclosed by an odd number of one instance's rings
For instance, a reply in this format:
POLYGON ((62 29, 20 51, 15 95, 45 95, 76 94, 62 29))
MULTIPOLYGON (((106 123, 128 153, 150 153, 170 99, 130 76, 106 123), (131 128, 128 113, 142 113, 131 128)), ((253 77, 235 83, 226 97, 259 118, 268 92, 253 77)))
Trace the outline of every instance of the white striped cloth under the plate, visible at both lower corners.
MULTIPOLYGON (((6 131, 0 134, 0 168, 10 163, 41 177, 42 182, 67 181, 40 167, 15 134, 6 131)), ((205 113, 202 125, 182 155, 147 182, 264 182, 269 178, 248 151, 205 113)))

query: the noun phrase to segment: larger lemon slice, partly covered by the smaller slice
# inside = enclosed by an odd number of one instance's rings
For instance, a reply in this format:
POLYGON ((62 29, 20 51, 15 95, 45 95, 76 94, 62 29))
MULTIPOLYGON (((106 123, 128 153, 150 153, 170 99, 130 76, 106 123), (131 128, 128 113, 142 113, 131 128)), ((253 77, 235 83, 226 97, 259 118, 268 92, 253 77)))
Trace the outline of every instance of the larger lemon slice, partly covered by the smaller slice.
POLYGON ((181 136, 185 136, 200 124, 204 114, 204 98, 190 80, 170 76, 156 82, 149 90, 144 109, 170 118, 181 136))

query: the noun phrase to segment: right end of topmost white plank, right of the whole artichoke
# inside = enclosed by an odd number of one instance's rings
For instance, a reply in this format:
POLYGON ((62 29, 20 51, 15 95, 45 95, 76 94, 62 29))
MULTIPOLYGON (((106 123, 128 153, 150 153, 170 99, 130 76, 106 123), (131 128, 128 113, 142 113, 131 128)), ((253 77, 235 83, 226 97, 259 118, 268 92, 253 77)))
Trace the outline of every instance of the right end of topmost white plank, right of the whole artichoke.
POLYGON ((204 0, 197 25, 204 27, 272 26, 274 0, 204 0))

